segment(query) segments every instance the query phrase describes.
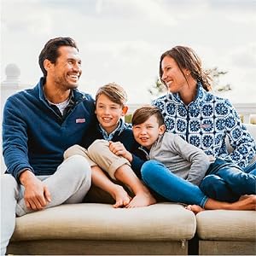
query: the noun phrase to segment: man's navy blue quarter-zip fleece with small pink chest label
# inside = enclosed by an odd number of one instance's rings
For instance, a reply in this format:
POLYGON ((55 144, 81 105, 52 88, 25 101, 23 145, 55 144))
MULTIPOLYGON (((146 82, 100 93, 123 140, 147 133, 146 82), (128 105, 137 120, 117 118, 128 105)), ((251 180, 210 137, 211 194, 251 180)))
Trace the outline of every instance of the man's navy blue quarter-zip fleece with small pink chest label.
POLYGON ((95 128, 93 98, 73 90, 74 104, 63 119, 45 100, 44 79, 29 90, 10 96, 3 109, 3 157, 17 180, 24 169, 51 175, 73 144, 84 146, 95 128))

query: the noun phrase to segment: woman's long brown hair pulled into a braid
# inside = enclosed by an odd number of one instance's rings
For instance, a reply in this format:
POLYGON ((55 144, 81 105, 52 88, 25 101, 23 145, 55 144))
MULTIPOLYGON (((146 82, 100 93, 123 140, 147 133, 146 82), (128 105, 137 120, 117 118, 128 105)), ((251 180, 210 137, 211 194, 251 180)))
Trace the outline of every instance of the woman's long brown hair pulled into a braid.
MULTIPOLYGON (((159 67, 159 74, 160 74, 161 81, 162 81, 162 75, 163 75, 161 62, 166 56, 169 56, 174 61, 176 61, 177 66, 179 67, 182 73, 183 73, 182 68, 189 69, 192 78, 201 82, 205 90, 209 91, 212 89, 212 85, 211 85, 212 78, 207 71, 202 69, 201 59, 199 58, 198 55, 196 55, 193 49, 186 46, 175 46, 172 49, 167 50, 165 53, 161 55, 160 67, 159 67)), ((183 73, 183 76, 187 80, 184 73, 183 73)))

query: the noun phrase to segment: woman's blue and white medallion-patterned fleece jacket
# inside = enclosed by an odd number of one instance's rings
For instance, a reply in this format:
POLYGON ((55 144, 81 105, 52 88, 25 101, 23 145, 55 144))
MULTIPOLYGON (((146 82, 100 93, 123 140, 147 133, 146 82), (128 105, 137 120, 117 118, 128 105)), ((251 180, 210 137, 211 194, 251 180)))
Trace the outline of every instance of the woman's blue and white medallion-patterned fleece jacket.
POLYGON ((232 160, 241 167, 253 159, 256 143, 241 123, 236 109, 229 100, 212 95, 201 84, 197 84, 195 101, 188 106, 177 93, 161 96, 153 105, 160 109, 167 131, 178 134, 206 154, 232 160), (230 154, 226 149, 226 137, 234 148, 230 154))

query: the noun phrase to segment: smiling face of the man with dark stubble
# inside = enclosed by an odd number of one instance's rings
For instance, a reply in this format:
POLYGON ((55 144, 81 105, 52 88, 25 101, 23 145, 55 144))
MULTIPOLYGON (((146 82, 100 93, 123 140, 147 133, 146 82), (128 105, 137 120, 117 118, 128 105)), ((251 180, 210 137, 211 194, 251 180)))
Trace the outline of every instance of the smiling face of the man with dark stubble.
POLYGON ((79 51, 71 46, 61 46, 58 51, 60 55, 54 64, 50 64, 47 77, 60 89, 77 88, 82 73, 79 51))

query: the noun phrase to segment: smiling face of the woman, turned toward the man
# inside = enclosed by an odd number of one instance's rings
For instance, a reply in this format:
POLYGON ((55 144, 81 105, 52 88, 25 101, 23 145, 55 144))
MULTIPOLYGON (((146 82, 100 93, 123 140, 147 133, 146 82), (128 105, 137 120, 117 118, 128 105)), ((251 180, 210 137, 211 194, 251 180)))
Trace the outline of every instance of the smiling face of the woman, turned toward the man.
POLYGON ((182 71, 177 66, 176 61, 170 56, 165 56, 161 62, 162 81, 166 84, 167 90, 172 93, 181 93, 183 90, 188 89, 187 80, 185 76, 189 77, 189 71, 183 69, 182 71))

